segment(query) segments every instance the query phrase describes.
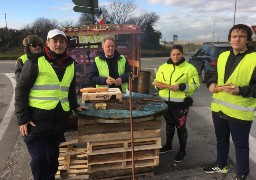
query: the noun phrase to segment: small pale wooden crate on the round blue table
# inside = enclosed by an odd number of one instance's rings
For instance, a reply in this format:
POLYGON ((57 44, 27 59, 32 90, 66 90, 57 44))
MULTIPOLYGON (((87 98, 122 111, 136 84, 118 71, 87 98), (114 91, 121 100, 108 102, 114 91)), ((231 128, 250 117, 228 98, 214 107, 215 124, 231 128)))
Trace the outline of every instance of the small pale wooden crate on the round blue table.
POLYGON ((118 100, 122 102, 123 96, 119 88, 109 88, 108 92, 82 93, 82 103, 86 101, 118 100))

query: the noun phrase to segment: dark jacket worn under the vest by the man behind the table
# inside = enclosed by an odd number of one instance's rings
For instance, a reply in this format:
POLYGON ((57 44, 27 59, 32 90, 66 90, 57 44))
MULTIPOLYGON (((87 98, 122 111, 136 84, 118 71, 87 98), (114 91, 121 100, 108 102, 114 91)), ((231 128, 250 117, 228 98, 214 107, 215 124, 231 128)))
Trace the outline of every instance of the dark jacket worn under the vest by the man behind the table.
MULTIPOLYGON (((104 52, 102 51, 99 54, 99 58, 102 60, 105 60, 107 62, 110 77, 112 77, 114 79, 117 79, 120 77, 122 79, 122 83, 127 83, 129 81, 128 72, 131 72, 131 66, 129 65, 128 61, 126 61, 126 64, 125 64, 124 74, 122 74, 120 76, 118 74, 117 61, 121 59, 121 56, 118 53, 118 51, 115 51, 114 56, 112 58, 106 58, 104 52)), ((95 61, 93 61, 92 65, 90 67, 89 79, 95 84, 107 85, 106 84, 107 77, 99 76, 99 71, 98 71, 95 61)), ((115 85, 111 85, 109 87, 115 88, 115 85)))

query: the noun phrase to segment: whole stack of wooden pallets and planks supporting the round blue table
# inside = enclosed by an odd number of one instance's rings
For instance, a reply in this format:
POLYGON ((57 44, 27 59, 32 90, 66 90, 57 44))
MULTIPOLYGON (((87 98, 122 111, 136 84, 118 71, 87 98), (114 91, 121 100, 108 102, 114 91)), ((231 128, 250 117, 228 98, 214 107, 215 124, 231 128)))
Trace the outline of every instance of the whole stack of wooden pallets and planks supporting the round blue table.
MULTIPOLYGON (((153 175, 159 164, 160 125, 160 119, 133 123, 136 176, 153 175)), ((90 177, 131 177, 130 139, 130 123, 96 123, 80 118, 78 141, 86 144, 90 177)))

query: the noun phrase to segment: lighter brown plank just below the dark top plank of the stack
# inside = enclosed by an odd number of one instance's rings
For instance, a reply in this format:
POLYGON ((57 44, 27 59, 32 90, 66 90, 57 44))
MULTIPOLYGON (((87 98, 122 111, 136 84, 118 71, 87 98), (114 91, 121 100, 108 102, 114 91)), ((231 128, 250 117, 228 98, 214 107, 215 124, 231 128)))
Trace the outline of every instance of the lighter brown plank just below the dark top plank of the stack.
MULTIPOLYGON (((160 137, 160 129, 140 130, 133 132, 134 139, 155 138, 160 137)), ((104 142, 114 140, 130 139, 130 131, 102 134, 86 134, 78 136, 79 142, 104 142)))

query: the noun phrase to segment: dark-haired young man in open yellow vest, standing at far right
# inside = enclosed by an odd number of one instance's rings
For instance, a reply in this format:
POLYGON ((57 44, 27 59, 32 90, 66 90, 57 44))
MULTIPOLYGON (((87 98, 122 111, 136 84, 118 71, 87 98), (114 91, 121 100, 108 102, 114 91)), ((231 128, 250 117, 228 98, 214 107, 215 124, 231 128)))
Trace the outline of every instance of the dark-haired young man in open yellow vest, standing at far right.
POLYGON ((256 109, 256 52, 248 46, 252 30, 234 25, 228 34, 232 49, 220 54, 217 74, 207 83, 213 93, 212 118, 217 138, 217 162, 206 173, 227 173, 230 134, 235 145, 237 177, 249 174, 249 134, 256 109))

